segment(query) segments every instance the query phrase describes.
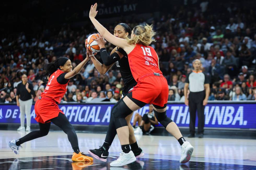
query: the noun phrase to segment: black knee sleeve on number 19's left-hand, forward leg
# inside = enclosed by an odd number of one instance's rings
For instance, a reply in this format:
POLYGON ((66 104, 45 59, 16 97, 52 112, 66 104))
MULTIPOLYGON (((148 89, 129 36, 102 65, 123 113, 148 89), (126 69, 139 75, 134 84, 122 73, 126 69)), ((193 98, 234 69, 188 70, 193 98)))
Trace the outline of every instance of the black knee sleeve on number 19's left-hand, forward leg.
POLYGON ((130 115, 131 113, 132 113, 132 110, 129 109, 129 107, 121 99, 121 102, 112 110, 112 113, 111 113, 113 117, 113 121, 115 123, 115 128, 118 129, 118 128, 127 126, 125 117, 130 115))

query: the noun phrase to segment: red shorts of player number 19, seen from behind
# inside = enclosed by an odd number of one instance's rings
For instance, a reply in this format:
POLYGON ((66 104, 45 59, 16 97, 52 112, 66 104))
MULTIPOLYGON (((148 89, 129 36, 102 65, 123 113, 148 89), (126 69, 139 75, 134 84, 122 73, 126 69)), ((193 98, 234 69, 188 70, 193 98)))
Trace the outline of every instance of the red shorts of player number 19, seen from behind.
POLYGON ((139 80, 133 87, 132 98, 162 107, 167 103, 168 91, 167 80, 163 76, 153 75, 139 80))

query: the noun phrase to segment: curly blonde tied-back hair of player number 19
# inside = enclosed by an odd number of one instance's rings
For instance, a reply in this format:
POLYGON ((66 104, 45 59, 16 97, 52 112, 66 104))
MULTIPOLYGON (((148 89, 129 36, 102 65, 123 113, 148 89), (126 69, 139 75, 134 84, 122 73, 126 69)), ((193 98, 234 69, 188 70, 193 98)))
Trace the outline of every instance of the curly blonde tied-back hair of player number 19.
POLYGON ((153 30, 152 25, 146 24, 146 26, 138 25, 133 28, 133 34, 135 36, 131 36, 131 38, 126 38, 127 42, 129 44, 142 44, 144 46, 150 45, 153 41, 155 42, 155 39, 152 39, 152 37, 156 34, 153 30))

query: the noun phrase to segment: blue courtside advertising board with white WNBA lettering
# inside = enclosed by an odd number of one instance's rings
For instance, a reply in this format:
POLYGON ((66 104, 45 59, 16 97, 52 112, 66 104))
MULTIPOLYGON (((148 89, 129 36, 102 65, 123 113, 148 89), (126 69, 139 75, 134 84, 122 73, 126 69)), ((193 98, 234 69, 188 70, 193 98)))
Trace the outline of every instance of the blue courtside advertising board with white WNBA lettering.
MULTIPOLYGON (((71 124, 108 125, 114 104, 60 104, 71 124)), ((205 127, 256 128, 255 103, 208 103, 205 107, 205 127)), ((135 111, 144 115, 149 109, 146 105, 135 111)), ((167 116, 179 127, 189 126, 189 107, 184 104, 168 104, 167 116)), ((0 105, 0 123, 19 123, 20 111, 16 105, 0 105)), ((31 123, 37 123, 34 105, 31 108, 31 123)), ((133 122, 133 117, 131 122, 133 122)), ((197 122, 196 122, 197 125, 197 122)), ((161 124, 159 124, 161 126, 161 124)))

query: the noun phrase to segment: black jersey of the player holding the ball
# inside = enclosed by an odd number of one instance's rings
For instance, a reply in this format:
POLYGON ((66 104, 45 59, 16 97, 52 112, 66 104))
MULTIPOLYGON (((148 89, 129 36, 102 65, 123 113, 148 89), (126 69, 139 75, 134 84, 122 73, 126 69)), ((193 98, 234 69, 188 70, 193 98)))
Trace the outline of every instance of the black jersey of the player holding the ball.
POLYGON ((115 64, 119 69, 122 75, 122 79, 124 81, 123 95, 125 96, 132 87, 136 86, 137 82, 132 76, 127 54, 123 56, 123 58, 115 62, 115 64))

